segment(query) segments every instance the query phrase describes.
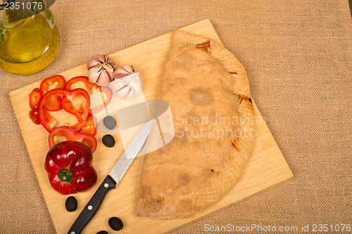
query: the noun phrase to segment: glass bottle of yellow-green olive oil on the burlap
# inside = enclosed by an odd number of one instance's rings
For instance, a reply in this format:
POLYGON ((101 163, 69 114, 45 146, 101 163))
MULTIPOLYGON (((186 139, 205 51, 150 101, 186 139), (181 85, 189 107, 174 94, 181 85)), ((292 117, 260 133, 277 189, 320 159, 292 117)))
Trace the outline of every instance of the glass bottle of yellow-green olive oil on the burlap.
MULTIPOLYGON (((47 67, 58 53, 60 36, 49 8, 39 13, 17 11, 19 20, 6 20, 0 12, 0 69, 29 75, 47 67), (31 15, 28 15, 31 14, 31 15)), ((12 15, 13 16, 13 15, 12 15)))

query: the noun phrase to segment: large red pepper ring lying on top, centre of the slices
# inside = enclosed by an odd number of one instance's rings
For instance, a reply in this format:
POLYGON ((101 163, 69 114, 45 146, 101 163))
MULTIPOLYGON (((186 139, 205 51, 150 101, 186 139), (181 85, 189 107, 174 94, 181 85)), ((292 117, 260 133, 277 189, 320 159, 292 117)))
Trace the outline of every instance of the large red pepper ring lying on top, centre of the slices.
POLYGON ((77 117, 78 123, 74 126, 74 129, 77 131, 80 130, 82 126, 84 126, 85 122, 87 121, 87 117, 89 114, 90 100, 89 100, 89 95, 87 91, 85 91, 84 89, 74 89, 73 91, 68 91, 66 89, 52 89, 51 91, 45 93, 45 95, 39 101, 38 110, 39 110, 40 123, 44 126, 46 131, 49 131, 49 132, 51 132, 54 129, 55 122, 56 122, 56 119, 51 117, 48 110, 46 110, 45 108, 45 104, 47 103, 50 96, 58 96, 59 98, 62 98, 65 96, 68 97, 68 102, 64 103, 65 108, 67 108, 65 110, 77 117), (76 95, 81 95, 86 100, 86 105, 84 107, 84 112, 82 113, 82 115, 80 115, 77 112, 69 111, 71 110, 70 106, 73 105, 72 103, 70 103, 69 100, 72 100, 72 98, 76 95))

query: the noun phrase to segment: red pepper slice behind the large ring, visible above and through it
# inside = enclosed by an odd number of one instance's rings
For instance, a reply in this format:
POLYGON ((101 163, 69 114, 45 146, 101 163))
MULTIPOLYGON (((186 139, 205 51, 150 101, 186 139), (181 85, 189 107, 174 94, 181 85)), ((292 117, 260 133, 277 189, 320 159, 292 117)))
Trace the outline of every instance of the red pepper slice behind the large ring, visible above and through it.
MULTIPOLYGON (((40 83, 40 91, 42 93, 42 96, 44 96, 45 93, 49 92, 52 89, 65 88, 65 84, 65 78, 63 78, 63 76, 61 76, 60 74, 56 74, 52 77, 43 79, 42 83, 40 83)), ((49 111, 61 110, 61 98, 58 96, 51 96, 47 100, 45 108, 49 111)))

